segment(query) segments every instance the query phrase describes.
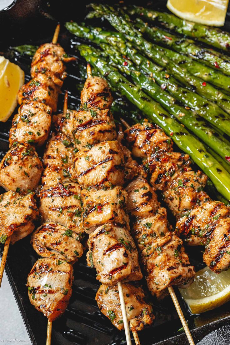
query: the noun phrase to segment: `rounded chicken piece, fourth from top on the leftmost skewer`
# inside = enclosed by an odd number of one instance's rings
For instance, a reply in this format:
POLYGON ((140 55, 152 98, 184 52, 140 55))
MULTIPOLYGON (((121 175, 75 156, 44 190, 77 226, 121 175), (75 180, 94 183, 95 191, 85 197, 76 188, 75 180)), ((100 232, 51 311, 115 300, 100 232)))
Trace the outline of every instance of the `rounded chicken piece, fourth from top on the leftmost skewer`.
POLYGON ((0 186, 22 193, 34 190, 41 178, 42 163, 34 147, 17 144, 0 163, 0 186))

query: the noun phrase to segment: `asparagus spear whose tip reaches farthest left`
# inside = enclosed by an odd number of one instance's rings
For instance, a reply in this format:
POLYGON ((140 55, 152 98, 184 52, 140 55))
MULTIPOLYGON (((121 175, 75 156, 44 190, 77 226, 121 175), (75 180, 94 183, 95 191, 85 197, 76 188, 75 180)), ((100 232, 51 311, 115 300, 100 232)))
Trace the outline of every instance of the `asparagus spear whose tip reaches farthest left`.
MULTIPOLYGON (((181 101, 186 107, 196 111, 201 117, 209 121, 213 126, 218 127, 221 131, 230 135, 229 116, 223 112, 217 105, 207 101, 196 93, 178 85, 177 81, 169 75, 167 71, 163 71, 161 67, 149 61, 140 55, 136 49, 132 48, 130 43, 126 43, 124 37, 117 32, 103 31, 100 28, 91 28, 79 26, 77 23, 66 23, 67 29, 76 34, 92 40, 95 43, 109 43, 133 60, 136 65, 140 66, 144 72, 153 77, 162 88, 167 90, 178 101, 181 101)), ((151 49, 150 49, 151 50, 151 49)), ((151 51, 151 54, 152 51, 151 51)))

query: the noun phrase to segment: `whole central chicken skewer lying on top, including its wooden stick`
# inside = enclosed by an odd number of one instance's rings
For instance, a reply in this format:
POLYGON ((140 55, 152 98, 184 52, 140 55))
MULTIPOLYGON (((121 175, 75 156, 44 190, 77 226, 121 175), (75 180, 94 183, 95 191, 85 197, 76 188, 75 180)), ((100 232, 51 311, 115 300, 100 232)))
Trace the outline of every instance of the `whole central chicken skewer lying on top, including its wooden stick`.
POLYGON ((81 92, 82 109, 75 117, 73 131, 79 152, 70 174, 84 188, 82 201, 86 216, 83 225, 86 232, 94 230, 88 241, 88 265, 96 267, 97 279, 102 284, 118 285, 126 340, 130 345, 121 281, 139 280, 142 274, 129 233, 128 216, 122 207, 125 191, 120 186, 124 179, 124 155, 120 143, 115 140, 117 135, 109 111, 112 96, 108 84, 102 78, 92 77, 89 64, 87 76, 81 92), (105 201, 103 207, 102 200, 105 201), (100 260, 97 260, 96 252, 100 260))

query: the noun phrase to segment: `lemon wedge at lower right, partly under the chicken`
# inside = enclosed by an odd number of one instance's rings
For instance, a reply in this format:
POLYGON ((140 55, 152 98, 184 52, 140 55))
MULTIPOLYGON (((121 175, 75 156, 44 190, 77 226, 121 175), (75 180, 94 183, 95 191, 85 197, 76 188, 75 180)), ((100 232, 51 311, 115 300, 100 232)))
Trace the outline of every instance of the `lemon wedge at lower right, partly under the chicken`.
POLYGON ((179 289, 192 314, 217 308, 230 300, 230 270, 216 274, 205 267, 188 289, 179 289))

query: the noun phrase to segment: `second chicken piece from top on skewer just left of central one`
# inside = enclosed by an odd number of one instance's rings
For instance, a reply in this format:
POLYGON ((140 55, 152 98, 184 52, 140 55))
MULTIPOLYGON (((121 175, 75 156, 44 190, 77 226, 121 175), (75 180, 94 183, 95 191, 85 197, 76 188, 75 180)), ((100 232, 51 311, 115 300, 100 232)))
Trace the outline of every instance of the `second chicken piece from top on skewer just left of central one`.
POLYGON ((63 133, 58 133, 49 140, 43 156, 46 167, 42 176, 43 186, 49 187, 59 182, 70 181, 68 168, 72 164, 75 152, 73 142, 63 133))

